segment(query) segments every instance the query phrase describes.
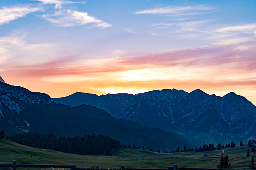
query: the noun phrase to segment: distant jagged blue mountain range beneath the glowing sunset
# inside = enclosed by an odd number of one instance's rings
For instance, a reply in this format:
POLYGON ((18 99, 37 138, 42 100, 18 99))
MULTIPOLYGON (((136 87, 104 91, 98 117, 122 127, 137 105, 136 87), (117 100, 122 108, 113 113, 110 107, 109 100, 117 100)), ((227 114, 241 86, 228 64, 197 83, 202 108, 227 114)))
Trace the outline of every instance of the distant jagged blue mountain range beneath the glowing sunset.
POLYGON ((233 92, 223 97, 199 89, 190 93, 163 89, 101 96, 77 92, 52 100, 69 106, 96 106, 115 118, 174 132, 194 144, 238 144, 256 138, 256 106, 233 92))

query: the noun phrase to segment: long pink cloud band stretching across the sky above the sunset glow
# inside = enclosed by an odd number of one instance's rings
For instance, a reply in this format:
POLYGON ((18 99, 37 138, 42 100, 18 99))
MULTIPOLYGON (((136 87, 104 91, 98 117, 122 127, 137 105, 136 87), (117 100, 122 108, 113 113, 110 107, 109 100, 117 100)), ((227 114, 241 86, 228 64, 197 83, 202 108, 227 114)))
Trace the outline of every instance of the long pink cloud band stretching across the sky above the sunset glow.
MULTIPOLYGON (((201 47, 185 49, 169 53, 127 53, 109 60, 95 60, 94 65, 88 63, 84 54, 60 56, 45 63, 26 65, 12 63, 5 67, 9 71, 19 70, 19 74, 31 76, 79 75, 92 73, 119 72, 147 68, 181 67, 204 68, 213 67, 234 72, 247 72, 256 69, 256 51, 231 48, 231 46, 201 47), (81 62, 79 62, 81 61, 81 62), (74 64, 75 63, 75 64, 74 64)), ((215 70, 216 71, 216 70, 215 70)), ((214 72, 215 72, 214 71, 214 72)))

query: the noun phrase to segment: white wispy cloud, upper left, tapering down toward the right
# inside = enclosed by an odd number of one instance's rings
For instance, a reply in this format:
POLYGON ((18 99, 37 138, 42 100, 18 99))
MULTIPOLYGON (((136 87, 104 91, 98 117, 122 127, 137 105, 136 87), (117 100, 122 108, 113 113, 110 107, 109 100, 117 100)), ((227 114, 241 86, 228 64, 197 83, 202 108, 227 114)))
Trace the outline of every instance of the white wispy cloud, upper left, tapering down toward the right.
POLYGON ((87 13, 82 13, 75 10, 60 10, 54 15, 43 15, 43 19, 61 27, 81 26, 89 23, 95 23, 93 27, 107 28, 110 24, 89 16, 87 13))

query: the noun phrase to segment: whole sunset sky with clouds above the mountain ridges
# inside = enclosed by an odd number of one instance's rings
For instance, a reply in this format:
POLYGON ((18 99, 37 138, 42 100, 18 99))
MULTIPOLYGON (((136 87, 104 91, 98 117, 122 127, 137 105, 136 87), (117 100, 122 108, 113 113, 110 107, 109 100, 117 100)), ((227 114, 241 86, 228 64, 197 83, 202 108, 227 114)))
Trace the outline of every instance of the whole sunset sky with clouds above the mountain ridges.
POLYGON ((256 105, 256 1, 1 0, 0 76, 64 97, 201 89, 256 105))

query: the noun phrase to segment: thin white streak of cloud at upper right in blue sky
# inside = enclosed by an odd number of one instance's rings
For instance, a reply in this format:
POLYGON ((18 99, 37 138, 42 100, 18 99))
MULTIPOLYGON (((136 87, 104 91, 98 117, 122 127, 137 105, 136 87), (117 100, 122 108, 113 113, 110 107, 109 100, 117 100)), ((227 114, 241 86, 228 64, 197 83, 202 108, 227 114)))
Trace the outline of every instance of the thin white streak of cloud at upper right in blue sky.
POLYGON ((136 11, 135 14, 176 14, 176 15, 197 15, 194 11, 206 11, 213 10, 213 8, 207 6, 186 6, 186 7, 163 7, 155 9, 147 9, 143 11, 136 11))

